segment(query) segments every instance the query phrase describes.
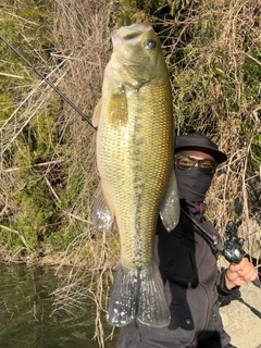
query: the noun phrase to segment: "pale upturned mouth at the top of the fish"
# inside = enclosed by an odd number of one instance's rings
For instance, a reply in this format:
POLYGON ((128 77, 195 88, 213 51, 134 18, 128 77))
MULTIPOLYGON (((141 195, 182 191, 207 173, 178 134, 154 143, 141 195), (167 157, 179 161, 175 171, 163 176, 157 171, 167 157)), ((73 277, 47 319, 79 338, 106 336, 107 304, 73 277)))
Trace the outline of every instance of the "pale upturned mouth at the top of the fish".
POLYGON ((151 30, 150 23, 137 23, 129 26, 122 26, 112 33, 112 44, 116 47, 120 44, 137 45, 145 32, 151 30))

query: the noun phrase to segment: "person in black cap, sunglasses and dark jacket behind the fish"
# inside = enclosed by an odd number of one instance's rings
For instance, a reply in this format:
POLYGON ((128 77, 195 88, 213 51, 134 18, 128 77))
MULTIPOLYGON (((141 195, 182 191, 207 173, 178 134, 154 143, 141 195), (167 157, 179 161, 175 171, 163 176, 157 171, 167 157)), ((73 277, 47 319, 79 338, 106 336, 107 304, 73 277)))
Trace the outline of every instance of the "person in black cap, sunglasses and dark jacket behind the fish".
POLYGON ((156 258, 171 322, 165 327, 152 327, 133 321, 121 328, 117 348, 235 347, 223 328, 217 297, 233 294, 239 286, 254 281, 258 273, 246 258, 220 273, 216 250, 198 228, 199 225, 219 238, 204 217, 203 201, 216 166, 226 159, 204 135, 194 133, 176 137, 174 165, 181 219, 171 233, 159 221, 156 239, 156 258))

